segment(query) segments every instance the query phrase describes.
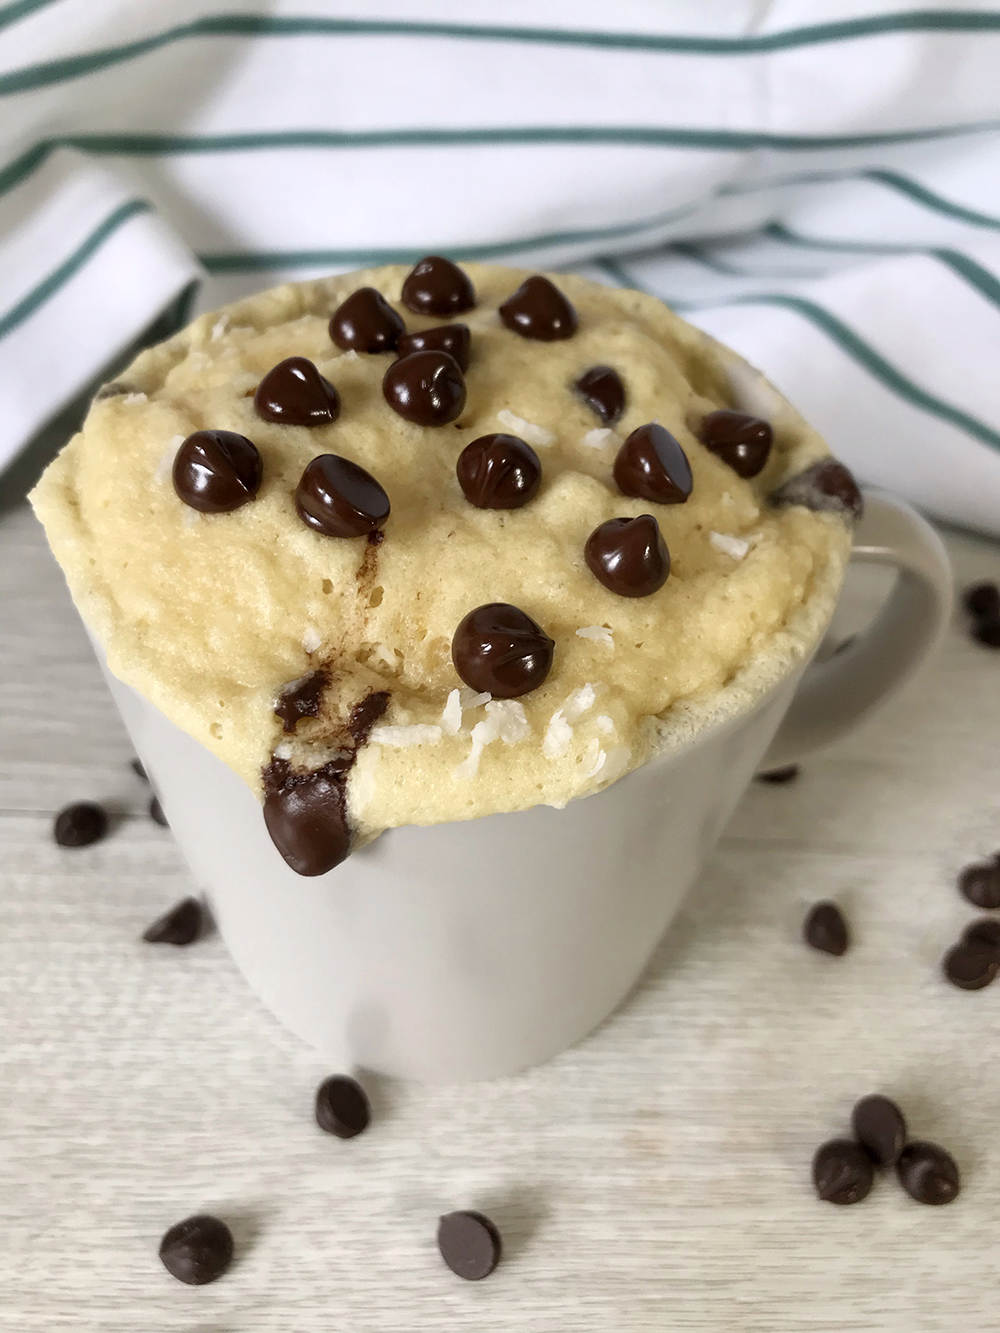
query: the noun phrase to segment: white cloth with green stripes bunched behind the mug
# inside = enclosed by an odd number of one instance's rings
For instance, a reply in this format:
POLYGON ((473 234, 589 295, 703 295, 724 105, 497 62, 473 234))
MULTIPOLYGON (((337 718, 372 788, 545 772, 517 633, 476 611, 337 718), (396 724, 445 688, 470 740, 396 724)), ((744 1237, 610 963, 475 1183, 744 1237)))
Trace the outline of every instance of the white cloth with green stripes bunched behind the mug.
POLYGON ((1000 535, 1000 11, 0 5, 0 463, 180 292, 428 252, 648 288, 1000 535))

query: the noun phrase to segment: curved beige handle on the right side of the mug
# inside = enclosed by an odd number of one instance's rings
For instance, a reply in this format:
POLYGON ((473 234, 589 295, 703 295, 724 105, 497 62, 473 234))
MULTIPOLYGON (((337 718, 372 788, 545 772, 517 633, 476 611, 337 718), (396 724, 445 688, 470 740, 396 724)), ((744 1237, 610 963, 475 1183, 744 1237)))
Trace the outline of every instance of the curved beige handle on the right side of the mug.
POLYGON ((865 633, 805 669, 761 760, 764 772, 829 745, 864 721, 909 680, 948 624, 948 553, 931 524, 904 500, 865 491, 851 559, 895 565, 896 585, 865 633))

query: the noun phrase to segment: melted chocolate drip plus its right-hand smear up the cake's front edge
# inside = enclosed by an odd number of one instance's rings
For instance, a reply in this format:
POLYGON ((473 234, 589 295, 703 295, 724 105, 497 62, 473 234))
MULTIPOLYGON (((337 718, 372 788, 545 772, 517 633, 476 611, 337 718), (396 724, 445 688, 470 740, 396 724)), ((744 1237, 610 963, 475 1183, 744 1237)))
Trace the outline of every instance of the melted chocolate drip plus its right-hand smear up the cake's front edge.
POLYGON ((264 769, 264 824, 296 874, 325 874, 349 856, 347 776, 388 706, 388 690, 372 690, 355 704, 344 746, 323 768, 301 772, 272 757, 264 769))

